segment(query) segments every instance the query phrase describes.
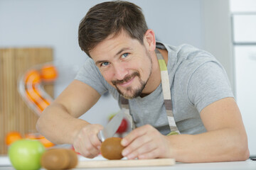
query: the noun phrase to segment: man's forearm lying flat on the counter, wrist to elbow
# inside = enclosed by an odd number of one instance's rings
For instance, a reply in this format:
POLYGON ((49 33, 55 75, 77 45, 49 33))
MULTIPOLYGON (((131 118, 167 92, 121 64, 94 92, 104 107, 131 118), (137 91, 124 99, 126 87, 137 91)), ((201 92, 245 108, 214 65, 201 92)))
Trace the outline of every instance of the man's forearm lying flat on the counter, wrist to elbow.
POLYGON ((249 157, 247 137, 240 130, 225 128, 168 138, 171 155, 177 162, 241 161, 249 157))

